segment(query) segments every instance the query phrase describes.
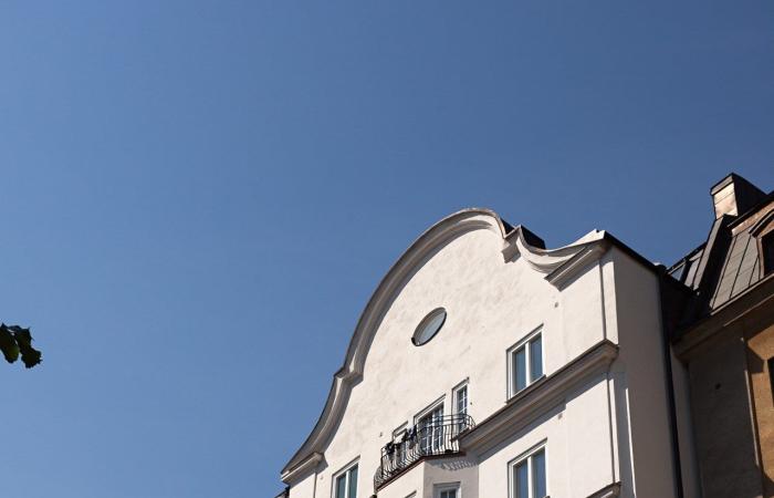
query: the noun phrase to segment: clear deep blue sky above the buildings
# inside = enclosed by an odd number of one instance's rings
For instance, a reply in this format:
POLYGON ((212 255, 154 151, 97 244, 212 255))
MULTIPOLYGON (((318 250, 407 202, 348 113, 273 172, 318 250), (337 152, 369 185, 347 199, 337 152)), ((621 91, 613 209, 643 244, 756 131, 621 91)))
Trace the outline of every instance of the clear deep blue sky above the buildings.
POLYGON ((774 188, 768 0, 2 2, 0 64, 13 498, 273 497, 460 208, 670 262, 774 188))

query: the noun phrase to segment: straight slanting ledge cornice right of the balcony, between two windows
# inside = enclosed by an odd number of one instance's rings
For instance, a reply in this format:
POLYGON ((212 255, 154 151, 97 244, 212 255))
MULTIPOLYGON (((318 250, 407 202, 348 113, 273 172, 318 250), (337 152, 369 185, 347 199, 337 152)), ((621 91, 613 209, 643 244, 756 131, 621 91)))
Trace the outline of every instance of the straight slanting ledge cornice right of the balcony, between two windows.
POLYGON ((617 345, 608 340, 598 342, 555 373, 516 394, 504 407, 460 435, 460 449, 481 453, 515 434, 566 400, 577 386, 607 371, 617 356, 617 345))

